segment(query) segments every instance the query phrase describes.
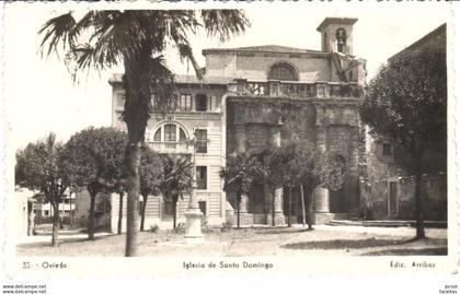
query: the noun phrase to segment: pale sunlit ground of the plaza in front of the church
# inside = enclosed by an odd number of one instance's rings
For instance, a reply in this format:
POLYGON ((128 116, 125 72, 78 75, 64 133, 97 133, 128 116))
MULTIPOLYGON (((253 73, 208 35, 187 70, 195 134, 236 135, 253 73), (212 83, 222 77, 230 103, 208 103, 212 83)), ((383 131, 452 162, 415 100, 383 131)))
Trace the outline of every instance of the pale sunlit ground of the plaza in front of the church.
MULTIPOLYGON (((302 226, 232 228, 205 232, 203 245, 183 244, 183 235, 170 231, 142 232, 140 256, 360 256, 360 255, 446 255, 447 230, 427 228, 427 239, 413 240, 411 227, 360 227, 318 225, 313 231, 302 226)), ((97 234, 90 242, 83 234, 60 237, 57 248, 50 236, 32 236, 16 246, 19 256, 123 256, 125 235, 97 234)))

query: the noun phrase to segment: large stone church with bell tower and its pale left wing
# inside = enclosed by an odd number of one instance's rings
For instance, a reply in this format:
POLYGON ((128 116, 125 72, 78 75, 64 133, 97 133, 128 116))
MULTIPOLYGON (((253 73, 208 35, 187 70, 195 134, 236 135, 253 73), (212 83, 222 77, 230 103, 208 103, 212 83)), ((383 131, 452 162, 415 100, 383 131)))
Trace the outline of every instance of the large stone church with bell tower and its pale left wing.
MULTIPOLYGON (((346 184, 340 191, 321 193, 315 201, 317 223, 337 214, 356 215, 359 176, 365 167, 365 132, 358 117, 364 98, 366 61, 353 55, 353 26, 357 19, 326 17, 317 28, 321 50, 276 45, 205 49, 204 79, 177 75, 176 111, 153 111, 146 141, 159 153, 192 154, 186 140, 194 134, 208 140, 196 150, 197 197, 208 224, 221 225, 234 196, 222 191, 219 170, 232 153, 258 153, 285 144, 294 137, 306 146, 325 149, 344 163, 346 184)), ((119 119, 124 107, 122 75, 113 86, 112 126, 126 129, 119 119)), ((299 193, 292 201, 292 220, 301 215, 299 193)), ((272 197, 254 184, 243 201, 243 224, 269 224, 272 197)), ((188 199, 179 202, 184 219, 188 199)), ((288 214, 283 189, 276 191, 275 221, 288 214)), ((117 203, 116 197, 112 205, 117 203)), ((116 215, 115 212, 112 213, 116 215)), ((170 223, 171 203, 151 197, 146 211, 149 224, 170 223)), ((114 223, 114 221, 113 221, 114 223)))

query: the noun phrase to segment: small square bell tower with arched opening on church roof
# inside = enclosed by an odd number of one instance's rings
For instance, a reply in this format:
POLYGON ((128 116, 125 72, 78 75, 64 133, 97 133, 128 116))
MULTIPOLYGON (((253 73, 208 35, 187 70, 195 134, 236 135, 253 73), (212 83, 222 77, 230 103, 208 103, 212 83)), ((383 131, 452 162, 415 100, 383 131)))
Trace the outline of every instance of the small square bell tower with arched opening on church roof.
POLYGON ((321 33, 321 50, 353 55, 353 25, 358 19, 325 17, 318 26, 321 33))

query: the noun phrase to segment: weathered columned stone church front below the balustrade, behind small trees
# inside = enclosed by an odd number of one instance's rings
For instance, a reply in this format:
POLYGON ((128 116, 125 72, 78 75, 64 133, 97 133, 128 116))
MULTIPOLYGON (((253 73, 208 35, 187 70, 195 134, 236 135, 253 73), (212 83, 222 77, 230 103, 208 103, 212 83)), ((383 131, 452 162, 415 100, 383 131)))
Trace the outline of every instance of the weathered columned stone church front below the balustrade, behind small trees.
MULTIPOLYGON (((343 103, 343 102, 342 102, 343 103)), ((281 145, 281 122, 283 111, 281 103, 276 101, 262 102, 260 103, 250 102, 241 98, 233 101, 234 114, 233 118, 230 118, 231 124, 234 128, 234 153, 241 154, 245 152, 253 152, 246 150, 246 125, 248 124, 263 124, 265 128, 268 128, 268 142, 272 146, 281 145)), ((304 106, 303 104, 299 107, 304 106)), ((341 200, 347 212, 358 208, 359 203, 359 190, 358 190, 358 162, 359 162, 359 124, 356 111, 356 104, 350 103, 348 105, 340 104, 325 104, 324 102, 313 102, 310 104, 315 108, 315 119, 312 121, 312 128, 314 129, 314 145, 317 149, 329 150, 344 157, 346 162, 346 174, 347 185, 345 185, 343 192, 347 196, 347 200, 341 200), (344 109, 352 109, 352 114, 345 115, 344 109), (335 141, 331 141, 331 132, 329 130, 334 126, 345 126, 346 133, 338 133, 335 141), (341 137, 342 136, 342 137, 341 137), (332 143, 331 143, 332 142, 332 143)), ((230 122, 229 121, 229 122, 230 122)), ((268 148, 265 146, 265 148, 268 148)), ((268 191, 267 185, 265 185, 265 203, 266 205, 266 223, 272 223, 272 196, 268 191)), ((317 223, 324 223, 332 219, 331 205, 330 205, 330 193, 326 189, 318 188, 314 191, 314 220, 317 223)), ((285 216, 283 212, 283 188, 277 189, 274 195, 274 209, 275 209, 275 224, 283 225, 285 223, 285 216)), ((249 212, 249 197, 242 196, 240 202, 240 222, 242 224, 252 224, 253 215, 249 212)))

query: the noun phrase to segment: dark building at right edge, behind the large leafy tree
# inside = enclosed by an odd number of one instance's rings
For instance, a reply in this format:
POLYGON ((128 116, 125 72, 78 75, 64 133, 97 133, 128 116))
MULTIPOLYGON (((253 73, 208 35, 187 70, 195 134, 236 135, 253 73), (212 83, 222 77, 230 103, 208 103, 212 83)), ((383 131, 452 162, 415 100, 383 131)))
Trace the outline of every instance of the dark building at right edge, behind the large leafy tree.
MULTIPOLYGON (((446 24, 437 27, 389 60, 405 54, 436 49, 446 54, 446 24)), ((446 81, 447 83, 447 81, 446 81)), ((447 99, 447 97, 440 97, 447 99)), ((361 181, 361 198, 366 198, 370 216, 376 219, 414 219, 415 177, 411 172, 414 160, 391 138, 367 134, 367 179, 361 181), (365 187, 366 185, 366 187, 365 187)), ((447 138, 429 142, 424 157, 425 220, 447 220, 447 138)))

